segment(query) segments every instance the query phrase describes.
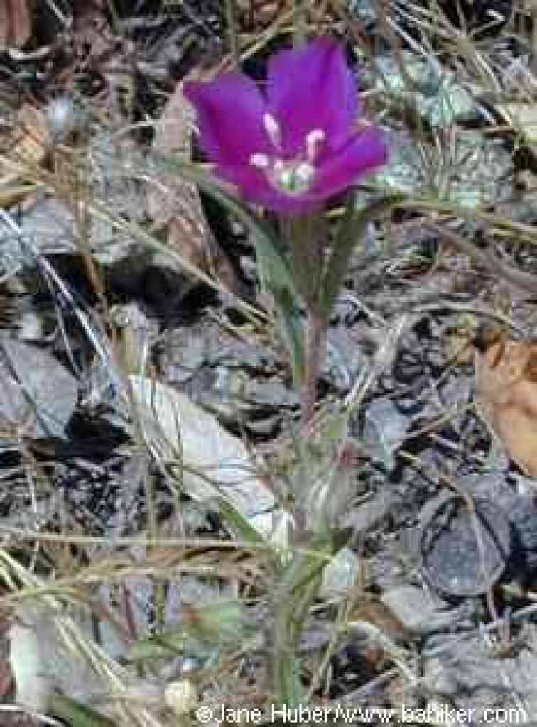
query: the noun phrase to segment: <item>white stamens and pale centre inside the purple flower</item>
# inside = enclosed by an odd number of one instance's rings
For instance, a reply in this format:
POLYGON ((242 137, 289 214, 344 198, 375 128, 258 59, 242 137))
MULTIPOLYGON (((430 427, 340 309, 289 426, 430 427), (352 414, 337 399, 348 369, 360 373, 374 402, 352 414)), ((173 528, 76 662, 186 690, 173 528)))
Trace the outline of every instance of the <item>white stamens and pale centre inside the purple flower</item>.
POLYGON ((263 116, 263 126, 274 147, 274 156, 255 153, 250 156, 250 164, 264 172, 268 182, 280 192, 291 196, 307 192, 315 179, 317 170, 314 163, 319 146, 325 141, 325 132, 322 129, 311 129, 306 134, 305 153, 298 154, 293 159, 282 159, 279 156, 282 150, 279 122, 270 113, 266 113, 263 116))

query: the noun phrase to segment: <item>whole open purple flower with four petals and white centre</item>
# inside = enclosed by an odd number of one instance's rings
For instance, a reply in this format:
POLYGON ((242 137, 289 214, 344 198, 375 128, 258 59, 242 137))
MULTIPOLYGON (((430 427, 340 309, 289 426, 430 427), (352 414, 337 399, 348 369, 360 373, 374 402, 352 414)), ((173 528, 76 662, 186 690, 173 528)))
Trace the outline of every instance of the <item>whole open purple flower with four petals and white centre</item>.
POLYGON ((242 73, 183 93, 217 174, 267 209, 301 214, 386 161, 380 130, 358 129, 354 76, 328 38, 273 55, 264 95, 242 73))

